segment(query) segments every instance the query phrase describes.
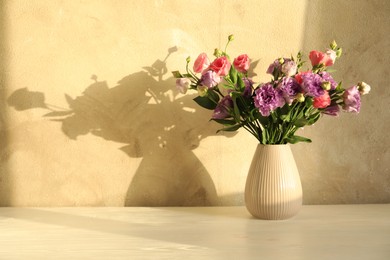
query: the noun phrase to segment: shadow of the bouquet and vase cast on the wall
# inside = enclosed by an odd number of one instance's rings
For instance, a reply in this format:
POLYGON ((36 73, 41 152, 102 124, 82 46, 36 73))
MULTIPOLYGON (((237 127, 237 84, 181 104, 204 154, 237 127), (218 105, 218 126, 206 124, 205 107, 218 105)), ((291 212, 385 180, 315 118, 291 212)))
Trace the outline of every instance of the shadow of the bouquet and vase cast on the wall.
POLYGON ((65 95, 69 108, 59 109, 45 102, 40 92, 16 90, 8 104, 16 110, 44 108, 45 117, 62 124, 70 139, 91 133, 105 140, 125 144, 121 150, 142 158, 128 189, 126 206, 216 205, 218 196, 205 167, 192 150, 217 126, 205 121, 190 95, 178 96, 166 60, 130 74, 115 87, 92 76, 94 83, 81 96, 65 95))

